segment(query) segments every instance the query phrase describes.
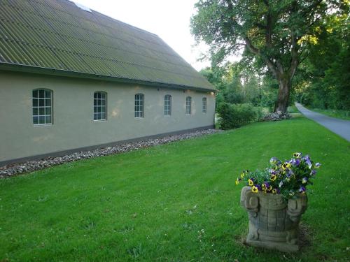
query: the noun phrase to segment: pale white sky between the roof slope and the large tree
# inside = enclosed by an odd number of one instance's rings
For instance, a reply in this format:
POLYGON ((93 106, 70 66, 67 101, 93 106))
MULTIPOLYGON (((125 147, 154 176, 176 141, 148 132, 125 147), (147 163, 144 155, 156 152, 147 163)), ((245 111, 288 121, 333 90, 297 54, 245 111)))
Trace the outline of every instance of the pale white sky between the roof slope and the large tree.
POLYGON ((197 0, 76 0, 92 10, 134 27, 157 34, 197 71, 210 66, 210 61, 197 61, 208 50, 195 46, 190 34, 190 17, 197 0))

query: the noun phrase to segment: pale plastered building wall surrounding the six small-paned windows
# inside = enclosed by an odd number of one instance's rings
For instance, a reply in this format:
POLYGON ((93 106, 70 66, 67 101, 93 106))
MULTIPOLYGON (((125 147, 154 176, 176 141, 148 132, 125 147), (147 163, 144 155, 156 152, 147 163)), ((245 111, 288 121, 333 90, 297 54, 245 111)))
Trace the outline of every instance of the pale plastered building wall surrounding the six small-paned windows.
POLYGON ((59 78, 0 71, 0 162, 74 150, 132 138, 214 125, 211 92, 165 89, 118 82, 59 78), (51 89, 53 123, 34 126, 32 90, 51 89), (94 92, 107 93, 107 120, 93 120, 94 92), (144 118, 134 117, 134 95, 144 94, 144 118), (172 115, 164 115, 164 96, 172 95, 172 115), (186 115, 191 96, 192 115, 186 115), (207 97, 207 113, 202 98, 207 97))

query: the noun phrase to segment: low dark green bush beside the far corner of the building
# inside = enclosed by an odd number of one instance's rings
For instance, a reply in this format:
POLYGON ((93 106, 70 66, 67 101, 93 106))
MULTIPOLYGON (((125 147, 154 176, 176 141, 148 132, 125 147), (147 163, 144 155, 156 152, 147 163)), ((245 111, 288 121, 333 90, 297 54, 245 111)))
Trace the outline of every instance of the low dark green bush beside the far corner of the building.
POLYGON ((262 118, 262 109, 251 103, 221 103, 218 105, 221 129, 234 129, 262 118))

